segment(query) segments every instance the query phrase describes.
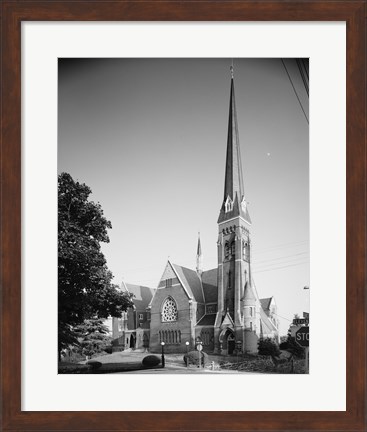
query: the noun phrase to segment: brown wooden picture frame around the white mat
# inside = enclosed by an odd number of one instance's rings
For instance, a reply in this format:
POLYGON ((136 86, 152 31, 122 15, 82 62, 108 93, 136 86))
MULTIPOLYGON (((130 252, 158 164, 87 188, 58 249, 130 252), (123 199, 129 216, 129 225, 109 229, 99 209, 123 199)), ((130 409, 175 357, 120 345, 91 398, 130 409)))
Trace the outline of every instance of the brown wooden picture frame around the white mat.
MULTIPOLYGON (((1 39, 1 391, 4 431, 366 430, 366 2, 3 0, 1 39), (346 411, 21 410, 21 22, 345 21, 347 28, 346 411)), ((317 389, 315 389, 315 393, 317 389)))

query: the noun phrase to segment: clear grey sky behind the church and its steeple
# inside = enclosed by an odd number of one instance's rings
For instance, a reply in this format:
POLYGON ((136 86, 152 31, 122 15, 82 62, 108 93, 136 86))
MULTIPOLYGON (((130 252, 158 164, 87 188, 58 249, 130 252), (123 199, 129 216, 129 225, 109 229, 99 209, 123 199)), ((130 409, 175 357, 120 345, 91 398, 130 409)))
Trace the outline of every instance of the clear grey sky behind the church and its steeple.
MULTIPOLYGON (((59 59, 58 171, 112 222, 116 284, 156 288, 168 258, 194 269, 198 232, 204 270, 217 266, 231 63, 59 59)), ((292 59, 233 65, 253 277, 286 334, 309 311, 308 98, 292 59)))

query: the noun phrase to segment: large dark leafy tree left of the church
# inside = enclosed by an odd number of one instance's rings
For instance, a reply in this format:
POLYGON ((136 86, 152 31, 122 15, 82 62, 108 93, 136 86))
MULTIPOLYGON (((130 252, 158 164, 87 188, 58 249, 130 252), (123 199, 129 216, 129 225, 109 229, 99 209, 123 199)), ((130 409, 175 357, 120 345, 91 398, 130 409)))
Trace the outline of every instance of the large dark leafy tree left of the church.
POLYGON ((112 284, 101 252, 111 222, 91 189, 70 174, 58 178, 58 337, 59 352, 78 344, 75 327, 85 320, 120 317, 133 305, 131 295, 112 284))

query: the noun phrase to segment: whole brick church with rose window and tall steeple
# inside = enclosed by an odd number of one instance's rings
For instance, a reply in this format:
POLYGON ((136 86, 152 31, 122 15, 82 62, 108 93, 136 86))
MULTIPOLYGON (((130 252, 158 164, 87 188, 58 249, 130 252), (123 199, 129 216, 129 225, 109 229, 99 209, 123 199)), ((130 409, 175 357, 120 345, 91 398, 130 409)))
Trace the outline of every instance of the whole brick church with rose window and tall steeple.
POLYGON ((204 270, 200 237, 196 269, 168 260, 156 289, 122 284, 134 308, 113 318, 114 351, 256 353, 259 338, 279 339, 274 297, 260 299, 252 274, 251 218, 245 198, 231 68, 224 194, 218 217, 218 267, 204 270))

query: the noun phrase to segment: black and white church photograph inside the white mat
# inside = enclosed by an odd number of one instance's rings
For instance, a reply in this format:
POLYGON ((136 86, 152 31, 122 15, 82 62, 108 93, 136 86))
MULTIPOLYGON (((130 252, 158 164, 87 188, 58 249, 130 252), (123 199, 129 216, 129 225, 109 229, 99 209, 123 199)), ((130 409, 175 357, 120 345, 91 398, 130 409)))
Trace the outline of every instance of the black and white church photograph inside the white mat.
POLYGON ((308 374, 307 58, 58 59, 58 372, 308 374))

